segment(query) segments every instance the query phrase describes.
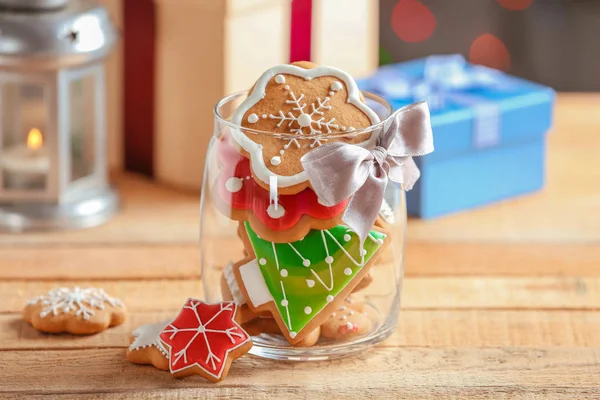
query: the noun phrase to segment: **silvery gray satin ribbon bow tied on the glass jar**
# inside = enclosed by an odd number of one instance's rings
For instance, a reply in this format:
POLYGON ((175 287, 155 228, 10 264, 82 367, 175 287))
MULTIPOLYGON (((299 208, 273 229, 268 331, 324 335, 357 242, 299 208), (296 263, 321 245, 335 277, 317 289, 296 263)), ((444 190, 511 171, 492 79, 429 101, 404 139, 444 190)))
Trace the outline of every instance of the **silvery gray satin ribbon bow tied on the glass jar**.
POLYGON ((412 189, 420 176, 412 157, 432 151, 429 108, 420 102, 396 111, 371 150, 334 142, 300 161, 322 204, 331 207, 350 197, 342 221, 358 234, 362 245, 381 209, 388 179, 412 189))

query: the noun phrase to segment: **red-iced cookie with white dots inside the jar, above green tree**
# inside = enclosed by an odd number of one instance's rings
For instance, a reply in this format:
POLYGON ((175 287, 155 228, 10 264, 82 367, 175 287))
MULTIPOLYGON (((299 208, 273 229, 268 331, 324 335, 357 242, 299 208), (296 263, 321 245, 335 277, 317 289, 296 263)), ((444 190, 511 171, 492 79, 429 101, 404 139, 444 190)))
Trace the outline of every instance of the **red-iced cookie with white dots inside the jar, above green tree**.
POLYGON ((228 218, 248 221, 260 237, 288 243, 311 229, 340 224, 347 201, 327 207, 307 188, 297 194, 279 195, 275 205, 269 192, 251 178, 250 160, 239 155, 226 139, 219 142, 217 151, 223 170, 213 189, 214 203, 228 218))

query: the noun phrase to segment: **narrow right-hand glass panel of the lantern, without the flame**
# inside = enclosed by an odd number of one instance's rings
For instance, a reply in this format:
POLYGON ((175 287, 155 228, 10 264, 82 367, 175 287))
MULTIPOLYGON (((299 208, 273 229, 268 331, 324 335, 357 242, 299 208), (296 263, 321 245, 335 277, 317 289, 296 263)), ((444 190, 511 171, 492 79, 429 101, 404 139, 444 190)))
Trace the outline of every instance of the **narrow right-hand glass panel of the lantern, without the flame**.
POLYGON ((95 172, 95 87, 95 75, 84 75, 69 83, 69 137, 73 181, 95 172))

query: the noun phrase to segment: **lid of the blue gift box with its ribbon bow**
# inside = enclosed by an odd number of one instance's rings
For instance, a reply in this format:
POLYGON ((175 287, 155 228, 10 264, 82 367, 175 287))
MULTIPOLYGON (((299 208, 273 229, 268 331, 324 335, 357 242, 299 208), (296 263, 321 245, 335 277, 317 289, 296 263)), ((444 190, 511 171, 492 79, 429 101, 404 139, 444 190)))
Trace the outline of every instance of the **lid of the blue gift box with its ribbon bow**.
POLYGON ((358 84, 394 109, 427 101, 436 150, 424 160, 516 144, 551 126, 553 89, 469 64, 461 55, 386 65, 358 84))

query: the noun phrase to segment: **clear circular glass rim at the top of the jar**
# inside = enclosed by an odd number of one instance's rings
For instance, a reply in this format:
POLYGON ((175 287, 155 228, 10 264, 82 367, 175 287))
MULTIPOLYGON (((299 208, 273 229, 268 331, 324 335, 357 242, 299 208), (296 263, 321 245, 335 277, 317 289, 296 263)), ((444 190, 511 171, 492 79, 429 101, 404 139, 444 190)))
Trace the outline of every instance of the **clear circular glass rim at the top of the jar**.
POLYGON ((233 122, 228 121, 225 118, 223 118, 223 116, 221 115, 219 110, 222 109, 225 104, 229 103, 233 99, 241 97, 241 96, 247 96, 248 95, 247 90, 241 90, 238 92, 234 92, 234 93, 231 93, 231 94, 223 97, 215 105, 215 107, 213 109, 213 114, 215 115, 215 118, 217 119, 217 121, 219 121, 220 124, 228 126, 231 129, 236 129, 236 130, 242 129, 244 131, 244 133, 251 133, 251 134, 256 134, 256 135, 268 135, 268 136, 280 137, 280 138, 284 138, 284 139, 285 138, 288 138, 288 139, 293 138, 293 139, 314 140, 314 139, 318 139, 321 137, 343 138, 343 137, 357 136, 357 135, 360 135, 363 133, 372 133, 373 131, 377 131, 381 127, 383 127, 388 122, 388 120, 390 118, 392 118, 392 116, 393 116, 394 109, 392 108, 391 104, 388 103, 388 101, 385 100, 383 97, 378 96, 374 93, 362 91, 362 90, 361 90, 361 93, 363 94, 365 99, 370 99, 370 100, 376 101, 376 102, 380 103, 381 105, 383 105, 385 107, 386 111, 388 112, 388 116, 376 124, 373 124, 373 125, 370 125, 370 126, 367 126, 364 128, 360 128, 360 129, 355 129, 351 132, 322 133, 320 135, 296 135, 294 133, 279 133, 279 132, 263 131, 263 130, 259 130, 259 129, 247 128, 247 127, 244 127, 241 125, 234 124, 233 122))

